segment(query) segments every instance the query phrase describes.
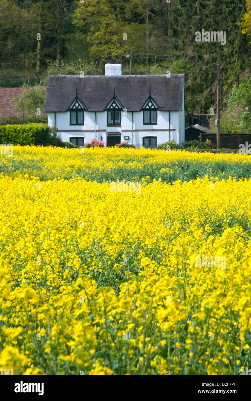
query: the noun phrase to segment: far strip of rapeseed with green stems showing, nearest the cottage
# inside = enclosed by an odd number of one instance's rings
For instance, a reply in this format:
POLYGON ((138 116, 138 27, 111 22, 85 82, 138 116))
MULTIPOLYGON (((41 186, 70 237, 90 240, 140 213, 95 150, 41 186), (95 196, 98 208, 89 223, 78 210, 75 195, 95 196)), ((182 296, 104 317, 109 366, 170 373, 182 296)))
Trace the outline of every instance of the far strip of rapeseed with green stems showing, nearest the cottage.
POLYGON ((157 149, 95 148, 64 149, 40 146, 14 146, 13 157, 0 155, 0 171, 28 174, 40 180, 77 178, 97 182, 136 180, 191 180, 208 176, 228 179, 251 177, 247 154, 191 153, 157 149))

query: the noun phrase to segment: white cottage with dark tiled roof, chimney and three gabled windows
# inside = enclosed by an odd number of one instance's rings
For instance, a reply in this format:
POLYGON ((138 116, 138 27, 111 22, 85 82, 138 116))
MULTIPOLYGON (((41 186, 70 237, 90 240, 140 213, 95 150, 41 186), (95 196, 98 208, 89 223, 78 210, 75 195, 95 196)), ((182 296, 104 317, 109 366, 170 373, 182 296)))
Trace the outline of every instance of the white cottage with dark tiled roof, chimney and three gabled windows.
POLYGON ((145 148, 184 142, 184 74, 118 75, 121 65, 105 67, 105 76, 49 76, 45 112, 64 142, 83 146, 95 138, 145 148))

